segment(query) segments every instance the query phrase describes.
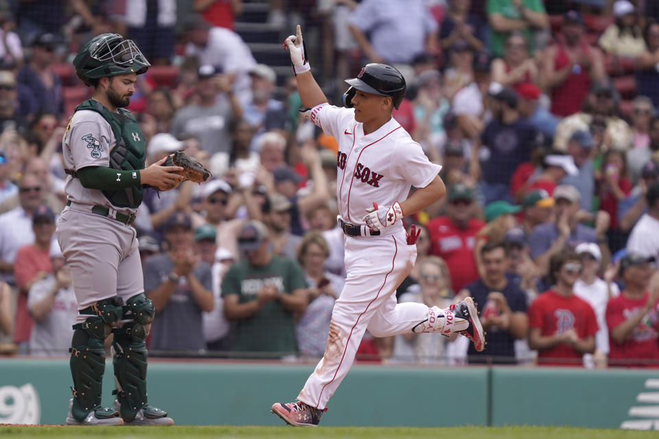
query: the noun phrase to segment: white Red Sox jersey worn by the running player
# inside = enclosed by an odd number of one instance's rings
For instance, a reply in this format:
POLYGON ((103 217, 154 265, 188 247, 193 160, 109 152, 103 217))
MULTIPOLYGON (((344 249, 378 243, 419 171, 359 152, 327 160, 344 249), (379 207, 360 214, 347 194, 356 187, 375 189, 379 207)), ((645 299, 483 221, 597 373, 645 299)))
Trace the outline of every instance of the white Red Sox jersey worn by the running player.
MULTIPOLYGON (((428 161, 421 145, 393 117, 366 135, 354 108, 320 104, 309 119, 338 143, 336 198, 344 221, 365 224, 362 217, 373 202, 391 206, 403 201, 412 185, 426 187, 439 174, 441 166, 428 161)), ((402 227, 400 222, 380 233, 391 235, 402 227)))

